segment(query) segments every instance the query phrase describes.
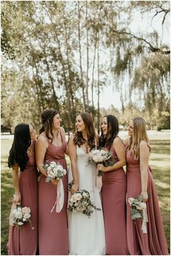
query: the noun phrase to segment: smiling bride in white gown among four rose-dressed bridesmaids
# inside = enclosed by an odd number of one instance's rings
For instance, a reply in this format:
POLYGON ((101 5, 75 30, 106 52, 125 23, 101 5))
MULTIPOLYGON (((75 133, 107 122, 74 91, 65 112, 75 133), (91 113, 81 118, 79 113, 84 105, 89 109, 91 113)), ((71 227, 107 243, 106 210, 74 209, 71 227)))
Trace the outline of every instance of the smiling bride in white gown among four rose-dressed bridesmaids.
POLYGON ((68 212, 70 255, 105 255, 104 217, 101 197, 96 186, 96 164, 89 162, 88 152, 98 142, 93 120, 87 112, 76 117, 76 131, 70 137, 68 150, 71 161, 69 183, 73 180, 71 194, 86 189, 91 201, 101 210, 93 210, 90 218, 81 212, 68 212))

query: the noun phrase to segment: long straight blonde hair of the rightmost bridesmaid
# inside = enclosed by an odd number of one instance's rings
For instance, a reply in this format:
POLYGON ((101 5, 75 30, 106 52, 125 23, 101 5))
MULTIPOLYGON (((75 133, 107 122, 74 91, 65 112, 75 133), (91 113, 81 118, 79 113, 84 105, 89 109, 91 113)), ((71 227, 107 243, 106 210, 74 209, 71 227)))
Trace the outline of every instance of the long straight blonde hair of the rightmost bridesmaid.
POLYGON ((149 151, 151 151, 151 146, 149 145, 149 138, 146 133, 146 122, 143 117, 133 118, 133 136, 130 136, 126 150, 132 150, 134 159, 139 160, 140 157, 140 142, 146 141, 149 146, 149 151))

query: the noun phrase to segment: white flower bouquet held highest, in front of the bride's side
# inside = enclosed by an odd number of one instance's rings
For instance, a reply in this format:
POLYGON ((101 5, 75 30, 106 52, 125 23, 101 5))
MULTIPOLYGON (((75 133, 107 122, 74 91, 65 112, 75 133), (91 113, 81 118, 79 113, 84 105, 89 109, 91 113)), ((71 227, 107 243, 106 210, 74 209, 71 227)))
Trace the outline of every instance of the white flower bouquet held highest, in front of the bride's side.
MULTIPOLYGON (((106 151, 104 149, 92 149, 89 153, 89 159, 91 162, 103 163, 104 166, 114 165, 114 158, 112 157, 111 151, 106 151)), ((99 171, 98 176, 102 173, 99 171)))

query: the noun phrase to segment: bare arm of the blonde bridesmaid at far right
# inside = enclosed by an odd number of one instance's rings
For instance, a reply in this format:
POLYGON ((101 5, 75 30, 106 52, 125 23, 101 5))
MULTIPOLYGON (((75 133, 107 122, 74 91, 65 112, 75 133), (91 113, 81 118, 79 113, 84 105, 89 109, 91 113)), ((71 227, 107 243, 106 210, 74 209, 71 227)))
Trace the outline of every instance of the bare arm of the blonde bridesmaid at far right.
POLYGON ((141 170, 141 194, 144 201, 148 200, 147 183, 148 183, 148 166, 149 166, 149 146, 146 141, 140 142, 140 170, 141 170))

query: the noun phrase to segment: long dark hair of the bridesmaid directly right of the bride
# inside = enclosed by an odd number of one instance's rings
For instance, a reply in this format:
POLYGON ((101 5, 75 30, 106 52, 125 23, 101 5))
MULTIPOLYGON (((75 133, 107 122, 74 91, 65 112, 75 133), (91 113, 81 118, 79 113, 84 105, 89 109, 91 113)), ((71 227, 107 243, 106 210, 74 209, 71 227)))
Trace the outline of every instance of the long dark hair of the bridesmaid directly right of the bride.
POLYGON ((117 117, 114 115, 104 115, 107 117, 107 134, 104 134, 101 129, 101 136, 99 139, 99 148, 106 146, 109 150, 113 144, 114 139, 119 133, 119 123, 117 117))

